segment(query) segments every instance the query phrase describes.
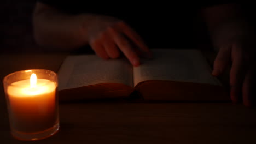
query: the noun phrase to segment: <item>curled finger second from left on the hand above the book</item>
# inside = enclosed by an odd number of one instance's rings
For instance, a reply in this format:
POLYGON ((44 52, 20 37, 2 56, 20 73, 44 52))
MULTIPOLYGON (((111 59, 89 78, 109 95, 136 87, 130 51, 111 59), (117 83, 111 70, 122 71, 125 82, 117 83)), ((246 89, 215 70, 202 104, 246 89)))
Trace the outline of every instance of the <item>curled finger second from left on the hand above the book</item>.
POLYGON ((108 37, 108 35, 103 35, 102 37, 104 49, 107 52, 108 56, 115 59, 120 56, 119 49, 115 45, 114 41, 108 37))

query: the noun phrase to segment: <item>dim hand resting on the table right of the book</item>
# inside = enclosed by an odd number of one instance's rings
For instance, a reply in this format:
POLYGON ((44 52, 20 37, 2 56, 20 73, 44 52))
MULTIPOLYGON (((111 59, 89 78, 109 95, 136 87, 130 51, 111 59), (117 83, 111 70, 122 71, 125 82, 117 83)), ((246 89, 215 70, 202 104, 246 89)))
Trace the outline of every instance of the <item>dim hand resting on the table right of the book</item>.
MULTIPOLYGON (((249 30, 249 29, 248 29, 249 30)), ((212 74, 218 76, 231 63, 230 97, 234 103, 243 101, 246 106, 255 103, 255 37, 251 32, 226 25, 216 35, 219 52, 212 74)))

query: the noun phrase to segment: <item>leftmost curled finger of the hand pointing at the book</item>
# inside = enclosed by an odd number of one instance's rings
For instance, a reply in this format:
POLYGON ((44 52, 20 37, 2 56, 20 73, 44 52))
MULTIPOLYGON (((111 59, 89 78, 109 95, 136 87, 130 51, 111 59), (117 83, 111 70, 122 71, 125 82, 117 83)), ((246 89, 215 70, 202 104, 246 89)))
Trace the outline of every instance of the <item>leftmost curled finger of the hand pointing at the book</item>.
POLYGON ((92 43, 90 43, 92 49, 94 50, 94 52, 96 53, 96 55, 98 55, 99 57, 103 58, 103 59, 109 59, 109 56, 107 54, 107 52, 105 51, 103 45, 101 45, 101 43, 99 41, 94 41, 92 43))

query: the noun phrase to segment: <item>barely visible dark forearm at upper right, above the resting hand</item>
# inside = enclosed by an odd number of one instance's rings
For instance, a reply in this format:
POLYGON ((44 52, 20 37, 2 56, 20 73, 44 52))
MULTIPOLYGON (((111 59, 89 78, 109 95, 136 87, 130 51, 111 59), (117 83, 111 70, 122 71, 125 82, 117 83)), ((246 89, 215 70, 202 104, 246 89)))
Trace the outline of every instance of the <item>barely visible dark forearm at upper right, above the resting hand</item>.
POLYGON ((248 34, 248 22, 242 15, 240 5, 225 4, 203 9, 208 32, 216 49, 223 41, 232 41, 248 34))

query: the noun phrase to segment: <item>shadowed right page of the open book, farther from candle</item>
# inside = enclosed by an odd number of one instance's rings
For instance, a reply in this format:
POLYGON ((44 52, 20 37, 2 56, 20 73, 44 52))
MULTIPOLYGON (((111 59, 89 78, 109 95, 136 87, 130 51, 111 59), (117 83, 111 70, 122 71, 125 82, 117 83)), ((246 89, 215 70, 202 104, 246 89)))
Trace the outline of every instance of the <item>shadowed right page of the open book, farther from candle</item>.
POLYGON ((194 49, 152 49, 153 59, 133 68, 134 85, 146 80, 171 80, 220 85, 202 53, 194 49))

